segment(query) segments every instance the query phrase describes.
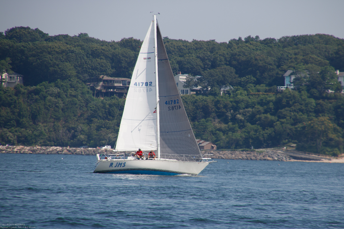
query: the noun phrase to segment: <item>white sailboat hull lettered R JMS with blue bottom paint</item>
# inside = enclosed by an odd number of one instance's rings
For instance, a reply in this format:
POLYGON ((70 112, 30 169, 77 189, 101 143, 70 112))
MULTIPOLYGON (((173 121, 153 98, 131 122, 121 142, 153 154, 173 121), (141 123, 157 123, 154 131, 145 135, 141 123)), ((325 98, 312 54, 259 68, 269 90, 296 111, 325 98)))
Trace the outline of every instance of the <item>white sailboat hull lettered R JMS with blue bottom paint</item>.
POLYGON ((100 160, 94 173, 131 173, 152 175, 197 175, 209 163, 189 162, 176 160, 137 160, 137 159, 112 159, 100 160))

